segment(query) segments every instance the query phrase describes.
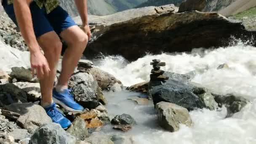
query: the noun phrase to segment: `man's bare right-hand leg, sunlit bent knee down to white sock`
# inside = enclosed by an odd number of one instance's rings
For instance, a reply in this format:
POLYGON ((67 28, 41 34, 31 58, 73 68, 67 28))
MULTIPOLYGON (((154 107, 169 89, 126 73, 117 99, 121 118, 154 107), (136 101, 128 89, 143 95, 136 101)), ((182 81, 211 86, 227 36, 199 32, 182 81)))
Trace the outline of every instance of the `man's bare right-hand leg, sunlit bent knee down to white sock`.
POLYGON ((67 87, 68 80, 88 43, 88 36, 78 26, 72 26, 61 32, 61 37, 67 42, 68 48, 62 60, 58 85, 67 87))

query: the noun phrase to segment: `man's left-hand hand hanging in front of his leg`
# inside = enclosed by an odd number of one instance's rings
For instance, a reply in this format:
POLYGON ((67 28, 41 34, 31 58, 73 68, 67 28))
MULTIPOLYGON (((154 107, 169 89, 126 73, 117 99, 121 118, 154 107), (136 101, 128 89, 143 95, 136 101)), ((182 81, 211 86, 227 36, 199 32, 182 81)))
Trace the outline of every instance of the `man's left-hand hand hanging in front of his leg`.
POLYGON ((35 70, 39 80, 49 75, 49 64, 41 51, 30 52, 30 63, 33 77, 35 75, 35 70))

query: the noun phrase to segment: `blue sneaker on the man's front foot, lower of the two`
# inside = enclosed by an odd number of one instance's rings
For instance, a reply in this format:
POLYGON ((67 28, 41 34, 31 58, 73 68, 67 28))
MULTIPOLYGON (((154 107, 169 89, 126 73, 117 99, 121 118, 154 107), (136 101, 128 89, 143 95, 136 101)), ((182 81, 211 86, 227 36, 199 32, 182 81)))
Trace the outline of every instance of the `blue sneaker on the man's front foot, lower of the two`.
POLYGON ((71 122, 64 117, 61 112, 56 108, 55 103, 51 104, 48 107, 45 107, 45 111, 49 117, 51 117, 51 120, 53 123, 59 123, 62 128, 67 129, 70 125, 71 122))

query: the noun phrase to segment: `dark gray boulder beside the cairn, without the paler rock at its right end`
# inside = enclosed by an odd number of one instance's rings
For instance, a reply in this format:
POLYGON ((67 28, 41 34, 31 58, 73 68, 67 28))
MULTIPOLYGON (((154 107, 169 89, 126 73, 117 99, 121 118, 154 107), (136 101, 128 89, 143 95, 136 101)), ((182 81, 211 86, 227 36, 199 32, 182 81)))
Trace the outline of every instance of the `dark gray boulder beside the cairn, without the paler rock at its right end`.
POLYGON ((193 93, 195 86, 189 83, 187 75, 172 72, 165 72, 164 75, 170 77, 166 83, 161 83, 160 85, 151 84, 150 93, 154 104, 165 101, 185 107, 189 111, 206 107, 204 101, 193 93))

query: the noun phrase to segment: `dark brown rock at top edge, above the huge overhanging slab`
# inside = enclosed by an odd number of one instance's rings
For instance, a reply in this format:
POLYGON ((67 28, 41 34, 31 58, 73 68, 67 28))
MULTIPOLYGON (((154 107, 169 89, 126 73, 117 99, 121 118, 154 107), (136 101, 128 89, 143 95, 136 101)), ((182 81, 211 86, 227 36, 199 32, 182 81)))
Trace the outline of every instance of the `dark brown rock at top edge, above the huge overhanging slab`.
POLYGON ((186 0, 179 6, 179 13, 184 11, 203 11, 207 2, 206 0, 186 0))

